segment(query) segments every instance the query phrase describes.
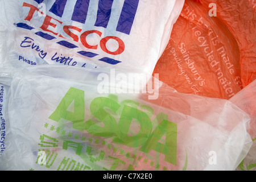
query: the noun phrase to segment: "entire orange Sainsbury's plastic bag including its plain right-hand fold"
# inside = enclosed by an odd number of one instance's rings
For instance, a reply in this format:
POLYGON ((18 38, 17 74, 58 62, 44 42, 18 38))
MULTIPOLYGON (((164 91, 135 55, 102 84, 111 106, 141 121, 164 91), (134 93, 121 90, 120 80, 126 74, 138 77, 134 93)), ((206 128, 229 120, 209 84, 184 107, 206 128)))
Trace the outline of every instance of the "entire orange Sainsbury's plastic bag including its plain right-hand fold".
POLYGON ((154 73, 177 92, 229 99, 255 79, 255 12, 242 17, 250 3, 213 2, 217 16, 209 15, 212 2, 185 1, 154 73))

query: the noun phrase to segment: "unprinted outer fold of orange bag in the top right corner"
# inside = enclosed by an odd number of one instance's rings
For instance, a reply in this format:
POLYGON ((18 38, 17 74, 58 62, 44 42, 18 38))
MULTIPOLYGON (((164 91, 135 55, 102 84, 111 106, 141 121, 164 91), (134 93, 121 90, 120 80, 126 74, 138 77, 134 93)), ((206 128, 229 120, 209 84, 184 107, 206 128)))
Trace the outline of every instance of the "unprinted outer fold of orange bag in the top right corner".
POLYGON ((215 3, 217 18, 232 32, 240 49, 241 79, 245 87, 256 79, 256 1, 200 0, 203 6, 215 3))

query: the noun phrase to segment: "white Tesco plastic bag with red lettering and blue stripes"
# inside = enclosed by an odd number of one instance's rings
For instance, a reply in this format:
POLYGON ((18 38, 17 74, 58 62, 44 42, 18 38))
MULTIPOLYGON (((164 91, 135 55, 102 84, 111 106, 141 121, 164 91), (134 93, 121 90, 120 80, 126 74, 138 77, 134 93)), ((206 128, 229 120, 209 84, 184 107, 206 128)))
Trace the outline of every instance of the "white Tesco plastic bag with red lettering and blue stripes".
POLYGON ((39 64, 152 74, 184 0, 0 1, 0 73, 39 64))

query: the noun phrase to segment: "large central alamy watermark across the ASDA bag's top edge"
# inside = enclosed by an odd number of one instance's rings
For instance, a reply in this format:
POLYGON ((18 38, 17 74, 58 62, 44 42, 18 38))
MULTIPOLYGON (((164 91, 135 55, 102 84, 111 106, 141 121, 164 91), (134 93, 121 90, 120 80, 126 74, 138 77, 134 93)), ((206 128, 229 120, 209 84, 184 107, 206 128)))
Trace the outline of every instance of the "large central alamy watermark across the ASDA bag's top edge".
POLYGON ((159 75, 144 75, 142 73, 115 73, 110 69, 110 74, 100 73, 97 80, 101 81, 97 86, 98 93, 131 93, 148 94, 149 100, 156 100, 159 96, 159 75))

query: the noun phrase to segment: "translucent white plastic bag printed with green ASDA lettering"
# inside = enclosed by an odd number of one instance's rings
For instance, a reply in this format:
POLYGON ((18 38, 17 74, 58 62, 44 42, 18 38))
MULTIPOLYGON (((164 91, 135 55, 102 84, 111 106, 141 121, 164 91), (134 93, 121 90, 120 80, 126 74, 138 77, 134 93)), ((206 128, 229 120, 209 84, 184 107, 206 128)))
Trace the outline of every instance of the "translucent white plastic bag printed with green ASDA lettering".
POLYGON ((141 73, 18 69, 7 103, 1 170, 234 170, 251 146, 232 102, 141 73))

